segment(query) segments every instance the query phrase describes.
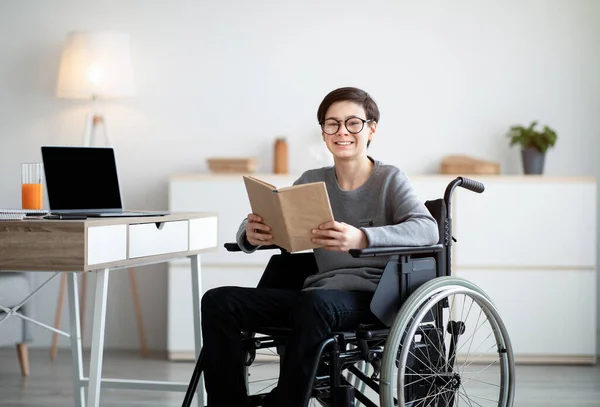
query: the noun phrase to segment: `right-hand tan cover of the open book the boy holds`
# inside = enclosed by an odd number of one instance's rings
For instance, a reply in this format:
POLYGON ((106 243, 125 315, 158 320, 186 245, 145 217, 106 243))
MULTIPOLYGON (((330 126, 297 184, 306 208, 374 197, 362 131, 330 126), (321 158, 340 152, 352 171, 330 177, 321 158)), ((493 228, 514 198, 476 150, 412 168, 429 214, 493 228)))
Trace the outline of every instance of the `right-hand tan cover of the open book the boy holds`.
POLYGON ((289 251, 320 247, 311 241, 312 229, 334 220, 325 183, 312 182, 281 188, 278 195, 290 237, 289 251))

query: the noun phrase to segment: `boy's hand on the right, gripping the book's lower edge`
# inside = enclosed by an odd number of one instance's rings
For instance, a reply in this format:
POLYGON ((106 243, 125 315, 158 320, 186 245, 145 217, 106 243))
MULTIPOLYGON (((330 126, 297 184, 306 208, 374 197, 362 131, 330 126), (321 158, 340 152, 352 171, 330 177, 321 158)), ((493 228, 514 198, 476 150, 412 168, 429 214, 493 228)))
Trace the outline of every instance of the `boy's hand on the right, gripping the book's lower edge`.
POLYGON ((313 229, 313 243, 320 244, 325 250, 347 252, 350 249, 367 247, 367 236, 362 230, 344 222, 325 222, 313 229))

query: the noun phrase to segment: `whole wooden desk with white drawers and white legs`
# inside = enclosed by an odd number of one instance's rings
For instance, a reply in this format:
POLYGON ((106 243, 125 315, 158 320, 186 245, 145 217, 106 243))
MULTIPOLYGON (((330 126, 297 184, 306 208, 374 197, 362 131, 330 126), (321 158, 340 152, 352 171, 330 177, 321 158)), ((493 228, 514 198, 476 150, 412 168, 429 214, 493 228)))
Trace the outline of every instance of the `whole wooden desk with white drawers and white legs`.
MULTIPOLYGON (((217 221, 216 214, 202 212, 87 220, 0 220, 0 271, 54 272, 35 292, 60 272, 71 272, 68 273, 69 333, 26 318, 18 310, 9 316, 26 319, 70 338, 76 407, 86 406, 85 387, 88 387, 88 407, 99 405, 101 386, 167 391, 187 389, 188 383, 102 378, 108 276, 111 270, 189 258, 198 356, 202 348, 200 253, 217 247, 217 221), (96 274, 89 377, 83 375, 77 287, 77 273, 83 272, 96 274)), ((197 393, 198 404, 204 406, 202 383, 197 393)))

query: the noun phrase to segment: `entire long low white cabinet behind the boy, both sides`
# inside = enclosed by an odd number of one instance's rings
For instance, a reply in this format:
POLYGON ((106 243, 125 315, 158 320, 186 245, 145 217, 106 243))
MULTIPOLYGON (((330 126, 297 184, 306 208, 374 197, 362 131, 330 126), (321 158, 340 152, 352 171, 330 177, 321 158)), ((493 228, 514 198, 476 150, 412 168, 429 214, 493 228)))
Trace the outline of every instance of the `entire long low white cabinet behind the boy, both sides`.
MULTIPOLYGON (((297 176, 257 175, 277 187, 297 176)), ((421 200, 444 195, 454 176, 411 177, 421 200)), ((476 176, 486 190, 455 189, 453 274, 478 284, 498 307, 517 362, 594 362, 597 343, 596 182, 591 178, 476 176)), ((202 256, 203 291, 256 286, 274 252, 230 253, 250 212, 240 175, 175 175, 171 211, 216 212, 218 250, 202 256)), ((193 357, 187 262, 169 269, 168 352, 193 357)))

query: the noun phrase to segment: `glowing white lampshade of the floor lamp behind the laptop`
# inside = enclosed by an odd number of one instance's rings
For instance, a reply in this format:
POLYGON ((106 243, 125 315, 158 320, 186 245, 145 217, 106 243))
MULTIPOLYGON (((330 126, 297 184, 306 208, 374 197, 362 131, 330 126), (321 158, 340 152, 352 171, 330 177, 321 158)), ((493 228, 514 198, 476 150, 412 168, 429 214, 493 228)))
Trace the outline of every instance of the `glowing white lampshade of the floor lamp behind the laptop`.
POLYGON ((129 35, 110 31, 67 34, 56 95, 76 99, 135 96, 129 35))

